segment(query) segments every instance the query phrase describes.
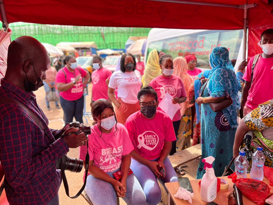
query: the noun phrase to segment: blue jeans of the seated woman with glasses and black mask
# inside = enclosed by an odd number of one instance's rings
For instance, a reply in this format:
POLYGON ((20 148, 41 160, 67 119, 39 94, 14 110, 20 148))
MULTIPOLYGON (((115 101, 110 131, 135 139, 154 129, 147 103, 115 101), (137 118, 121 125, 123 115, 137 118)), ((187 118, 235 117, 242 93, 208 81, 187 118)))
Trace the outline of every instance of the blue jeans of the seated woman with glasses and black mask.
MULTIPOLYGON (((157 160, 158 159, 151 160, 151 161, 157 161, 157 160)), ((169 160, 168 157, 164 160, 163 163, 165 165, 166 177, 165 179, 159 179, 159 181, 165 188, 164 183, 177 182, 178 179, 177 179, 177 174, 174 171, 171 161, 169 160)), ((151 169, 148 166, 134 159, 131 160, 130 168, 134 172, 136 178, 139 180, 139 183, 144 190, 147 205, 158 204, 161 201, 161 190, 157 182, 157 177, 154 175, 151 169)))

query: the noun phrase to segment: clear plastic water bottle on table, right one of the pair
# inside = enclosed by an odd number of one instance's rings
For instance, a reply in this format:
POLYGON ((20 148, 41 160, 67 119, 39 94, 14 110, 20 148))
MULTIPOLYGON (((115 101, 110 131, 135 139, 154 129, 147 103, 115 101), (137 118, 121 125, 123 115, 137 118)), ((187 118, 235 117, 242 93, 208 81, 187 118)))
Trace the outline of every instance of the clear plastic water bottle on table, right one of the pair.
POLYGON ((250 177, 252 179, 263 180, 264 178, 264 163, 265 156, 262 153, 262 148, 257 147, 257 151, 252 155, 252 167, 250 169, 250 177))

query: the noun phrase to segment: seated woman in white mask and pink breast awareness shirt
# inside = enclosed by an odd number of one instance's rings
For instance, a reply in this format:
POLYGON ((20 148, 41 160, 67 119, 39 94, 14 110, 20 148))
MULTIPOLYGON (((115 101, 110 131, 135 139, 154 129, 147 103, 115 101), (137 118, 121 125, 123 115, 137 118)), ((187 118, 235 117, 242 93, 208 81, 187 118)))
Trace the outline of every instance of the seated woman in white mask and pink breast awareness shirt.
MULTIPOLYGON (((116 204, 117 196, 127 204, 146 204, 138 180, 133 173, 128 174, 134 147, 126 128, 116 122, 112 103, 99 99, 91 111, 94 126, 88 135, 90 161, 85 187, 88 197, 94 205, 116 204)), ((85 160, 86 153, 87 146, 82 146, 80 159, 85 160)))

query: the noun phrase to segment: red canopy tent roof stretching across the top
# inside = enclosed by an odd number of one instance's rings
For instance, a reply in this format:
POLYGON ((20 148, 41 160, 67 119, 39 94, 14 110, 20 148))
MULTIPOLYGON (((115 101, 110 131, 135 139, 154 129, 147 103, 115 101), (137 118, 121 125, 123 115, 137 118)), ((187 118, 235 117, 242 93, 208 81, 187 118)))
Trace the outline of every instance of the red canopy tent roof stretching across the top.
POLYGON ((255 45, 248 52, 251 56, 260 52, 256 44, 261 31, 273 27, 272 0, 0 0, 0 8, 6 26, 23 21, 74 26, 244 29, 245 45, 248 28, 249 40, 255 45))

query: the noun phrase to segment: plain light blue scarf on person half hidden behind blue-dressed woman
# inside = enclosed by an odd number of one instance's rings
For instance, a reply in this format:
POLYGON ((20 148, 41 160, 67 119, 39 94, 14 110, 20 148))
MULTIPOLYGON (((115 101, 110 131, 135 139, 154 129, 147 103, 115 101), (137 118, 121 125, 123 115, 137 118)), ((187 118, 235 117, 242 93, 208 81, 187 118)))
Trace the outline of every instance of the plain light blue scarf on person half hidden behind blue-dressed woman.
MULTIPOLYGON (((201 93, 201 80, 199 80, 202 76, 205 78, 208 78, 210 70, 205 70, 202 73, 198 74, 195 77, 194 80, 194 98, 197 99, 200 96, 201 93)), ((200 105, 195 103, 195 109, 196 109, 196 124, 200 123, 200 105)), ((194 117, 194 116, 193 116, 194 117)))

